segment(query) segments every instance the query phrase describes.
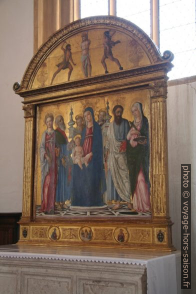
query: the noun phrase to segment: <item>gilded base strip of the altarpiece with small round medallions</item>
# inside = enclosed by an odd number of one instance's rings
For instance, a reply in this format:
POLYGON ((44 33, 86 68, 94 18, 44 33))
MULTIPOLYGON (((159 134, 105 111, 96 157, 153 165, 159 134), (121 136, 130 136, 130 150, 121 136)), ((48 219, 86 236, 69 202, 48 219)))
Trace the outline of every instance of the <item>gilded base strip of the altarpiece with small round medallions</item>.
POLYGON ((162 226, 120 226, 109 225, 108 227, 99 226, 102 233, 105 230, 112 230, 111 238, 105 239, 105 234, 100 234, 95 231, 97 225, 81 225, 81 226, 67 226, 63 224, 42 224, 32 223, 30 225, 20 226, 20 240, 19 244, 39 244, 39 245, 59 245, 59 246, 92 246, 92 247, 126 247, 135 249, 156 249, 173 251, 175 248, 170 242, 170 228, 167 225, 162 226), (56 235, 52 237, 51 234, 56 228, 56 235), (70 235, 67 238, 63 237, 62 230, 76 229, 78 235, 70 235), (90 238, 85 236, 81 237, 81 230, 87 228, 88 232, 91 231, 90 238), (27 230, 27 234, 23 235, 23 230, 27 230), (124 239, 120 241, 118 239, 120 229, 123 231, 124 239), (140 233, 138 233, 140 231, 140 233), (151 231, 151 233, 150 233, 151 231))

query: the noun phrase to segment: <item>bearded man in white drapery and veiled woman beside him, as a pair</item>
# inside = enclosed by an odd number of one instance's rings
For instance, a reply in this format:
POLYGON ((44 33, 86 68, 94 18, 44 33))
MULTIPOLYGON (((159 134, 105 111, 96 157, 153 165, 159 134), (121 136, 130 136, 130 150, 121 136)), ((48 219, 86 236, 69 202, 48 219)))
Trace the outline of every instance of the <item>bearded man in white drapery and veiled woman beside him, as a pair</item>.
POLYGON ((127 202, 133 211, 147 212, 150 207, 149 130, 142 104, 131 106, 134 120, 122 118, 123 107, 115 105, 114 120, 105 138, 104 161, 107 162, 107 199, 127 202), (130 197, 131 195, 131 197, 130 197))

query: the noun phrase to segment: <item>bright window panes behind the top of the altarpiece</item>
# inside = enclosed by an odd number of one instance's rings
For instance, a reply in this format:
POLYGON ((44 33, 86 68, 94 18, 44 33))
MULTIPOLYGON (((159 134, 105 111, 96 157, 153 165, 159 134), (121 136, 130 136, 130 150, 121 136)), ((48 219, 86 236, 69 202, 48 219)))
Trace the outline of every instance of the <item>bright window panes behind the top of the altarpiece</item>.
MULTIPOLYGON (((170 79, 196 74, 195 0, 113 0, 116 15, 135 23, 150 36, 150 17, 155 2, 159 8, 160 52, 174 54, 170 79)), ((109 0, 80 0, 81 18, 107 15, 109 0)), ((153 24, 154 25, 154 24, 153 24)))

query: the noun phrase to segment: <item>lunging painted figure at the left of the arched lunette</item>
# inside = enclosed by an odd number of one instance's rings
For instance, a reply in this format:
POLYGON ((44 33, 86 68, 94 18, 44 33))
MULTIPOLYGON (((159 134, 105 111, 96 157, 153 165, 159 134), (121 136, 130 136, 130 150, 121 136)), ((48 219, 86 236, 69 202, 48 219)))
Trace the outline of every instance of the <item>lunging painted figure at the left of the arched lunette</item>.
POLYGON ((61 45, 61 49, 63 50, 63 60, 60 63, 56 64, 56 66, 58 67, 58 69, 54 72, 50 84, 52 84, 52 82, 53 82, 54 77, 56 76, 56 74, 58 72, 60 72, 60 70, 66 69, 66 68, 69 69, 69 71, 68 71, 68 81, 69 81, 70 80, 70 76, 71 76, 71 72, 73 70, 73 67, 72 67, 70 61, 72 62, 73 65, 76 65, 74 63, 73 59, 72 59, 71 45, 70 44, 66 44, 65 48, 63 46, 64 46, 64 43, 61 45))

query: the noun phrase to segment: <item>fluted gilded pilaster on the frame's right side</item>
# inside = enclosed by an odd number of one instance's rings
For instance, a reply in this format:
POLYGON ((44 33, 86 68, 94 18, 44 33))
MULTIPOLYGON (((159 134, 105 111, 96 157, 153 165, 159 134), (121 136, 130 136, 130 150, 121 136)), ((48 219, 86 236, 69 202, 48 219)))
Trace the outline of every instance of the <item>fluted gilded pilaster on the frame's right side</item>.
POLYGON ((168 216, 166 81, 156 81, 151 97, 151 193, 153 216, 168 216))

